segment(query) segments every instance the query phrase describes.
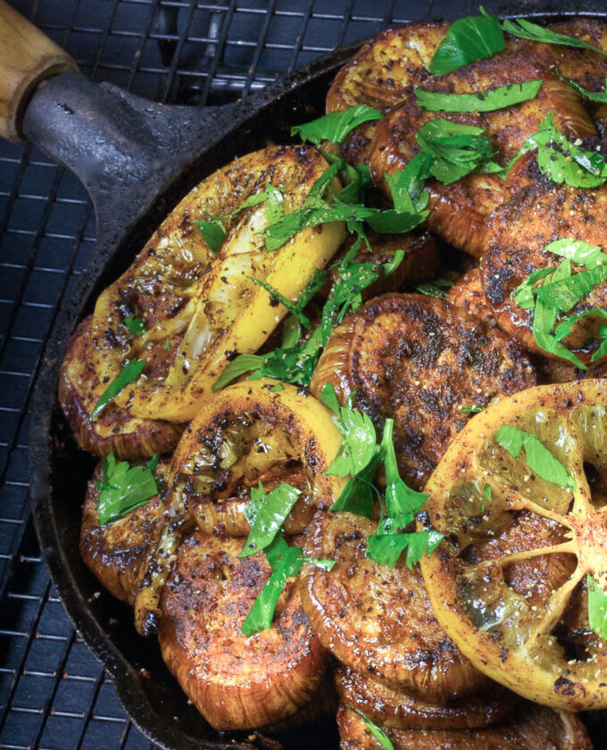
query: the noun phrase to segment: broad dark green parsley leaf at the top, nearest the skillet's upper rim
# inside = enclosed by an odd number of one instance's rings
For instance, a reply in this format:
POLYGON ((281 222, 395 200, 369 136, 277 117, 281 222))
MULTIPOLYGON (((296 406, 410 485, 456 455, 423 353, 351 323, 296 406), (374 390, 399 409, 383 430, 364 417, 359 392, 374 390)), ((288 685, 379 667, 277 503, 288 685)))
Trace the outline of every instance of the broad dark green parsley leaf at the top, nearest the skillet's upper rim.
POLYGON ((443 75, 505 49, 500 21, 478 15, 453 21, 428 65, 428 71, 443 75))

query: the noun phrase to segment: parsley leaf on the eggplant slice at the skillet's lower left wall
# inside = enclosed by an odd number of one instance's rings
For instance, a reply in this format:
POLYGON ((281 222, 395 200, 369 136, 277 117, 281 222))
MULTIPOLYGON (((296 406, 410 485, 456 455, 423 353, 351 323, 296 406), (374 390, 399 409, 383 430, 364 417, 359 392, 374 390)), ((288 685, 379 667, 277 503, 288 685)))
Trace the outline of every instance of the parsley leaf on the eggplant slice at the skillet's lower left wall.
POLYGON ((146 467, 131 467, 128 461, 117 463, 113 454, 105 456, 101 464, 101 479, 97 481, 97 515, 101 526, 118 521, 158 494, 154 479, 157 464, 158 454, 146 467))

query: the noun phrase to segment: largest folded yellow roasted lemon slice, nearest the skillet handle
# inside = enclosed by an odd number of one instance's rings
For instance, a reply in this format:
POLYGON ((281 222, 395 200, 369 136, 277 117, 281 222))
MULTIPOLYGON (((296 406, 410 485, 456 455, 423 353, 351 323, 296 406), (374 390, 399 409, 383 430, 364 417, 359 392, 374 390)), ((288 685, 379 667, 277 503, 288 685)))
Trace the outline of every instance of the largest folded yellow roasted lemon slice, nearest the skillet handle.
POLYGON ((295 301, 345 238, 337 221, 303 229, 279 249, 265 246, 270 219, 301 208, 327 169, 312 147, 266 148, 214 172, 170 213, 97 300, 93 355, 100 379, 115 379, 134 358, 146 361, 116 404, 140 417, 187 421, 230 355, 262 346, 287 308, 259 282, 295 301), (209 221, 216 217, 220 223, 209 221), (225 233, 219 249, 207 245, 200 222, 225 233))

